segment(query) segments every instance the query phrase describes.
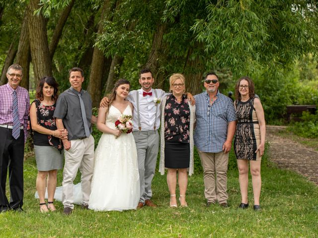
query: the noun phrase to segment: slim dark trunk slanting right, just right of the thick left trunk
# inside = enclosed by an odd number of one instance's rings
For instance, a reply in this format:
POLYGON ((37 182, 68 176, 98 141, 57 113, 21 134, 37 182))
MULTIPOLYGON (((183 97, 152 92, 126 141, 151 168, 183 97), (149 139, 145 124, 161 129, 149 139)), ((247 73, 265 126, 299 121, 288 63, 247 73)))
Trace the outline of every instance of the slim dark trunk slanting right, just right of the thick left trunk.
POLYGON ((72 7, 74 5, 74 1, 75 0, 72 0, 70 5, 68 5, 64 11, 62 12, 57 24, 56 24, 56 27, 55 27, 55 30, 54 30, 54 33, 53 33, 53 37, 52 37, 52 40, 51 40, 51 44, 50 44, 50 47, 49 47, 49 51, 50 51, 50 59, 53 60, 53 56, 54 56, 54 53, 55 53, 55 50, 58 46, 58 43, 59 43, 59 40, 62 36, 62 32, 63 32, 63 28, 65 26, 65 23, 66 23, 66 20, 68 19, 69 15, 70 15, 70 12, 72 10, 72 7))

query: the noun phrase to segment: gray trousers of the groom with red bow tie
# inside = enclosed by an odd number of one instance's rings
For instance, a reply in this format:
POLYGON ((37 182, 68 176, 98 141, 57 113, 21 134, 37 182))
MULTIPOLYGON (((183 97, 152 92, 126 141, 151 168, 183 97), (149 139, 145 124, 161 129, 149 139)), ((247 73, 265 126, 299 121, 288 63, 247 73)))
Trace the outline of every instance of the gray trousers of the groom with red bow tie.
POLYGON ((150 199, 153 195, 151 182, 155 175, 158 150, 158 130, 133 131, 138 154, 140 177, 140 202, 150 199))

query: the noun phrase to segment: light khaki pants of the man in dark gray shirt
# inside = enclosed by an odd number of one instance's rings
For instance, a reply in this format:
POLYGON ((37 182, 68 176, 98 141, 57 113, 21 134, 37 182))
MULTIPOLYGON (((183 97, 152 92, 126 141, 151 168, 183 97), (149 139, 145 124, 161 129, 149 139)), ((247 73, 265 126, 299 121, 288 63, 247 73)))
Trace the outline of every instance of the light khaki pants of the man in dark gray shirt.
POLYGON ((63 170, 62 202, 64 207, 74 209, 73 182, 78 170, 81 173, 81 189, 83 205, 88 205, 90 183, 94 170, 94 137, 71 140, 71 148, 64 150, 65 165, 63 170))

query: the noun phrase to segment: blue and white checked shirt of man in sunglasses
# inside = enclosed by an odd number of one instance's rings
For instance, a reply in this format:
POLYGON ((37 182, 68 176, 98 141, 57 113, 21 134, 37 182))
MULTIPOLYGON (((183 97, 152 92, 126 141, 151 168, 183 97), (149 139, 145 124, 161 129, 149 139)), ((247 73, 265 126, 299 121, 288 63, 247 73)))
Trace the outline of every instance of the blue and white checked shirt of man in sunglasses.
POLYGON ((207 92, 197 94, 194 98, 196 116, 194 145, 203 152, 222 152, 227 139, 228 123, 237 120, 232 100, 220 91, 212 106, 207 92))

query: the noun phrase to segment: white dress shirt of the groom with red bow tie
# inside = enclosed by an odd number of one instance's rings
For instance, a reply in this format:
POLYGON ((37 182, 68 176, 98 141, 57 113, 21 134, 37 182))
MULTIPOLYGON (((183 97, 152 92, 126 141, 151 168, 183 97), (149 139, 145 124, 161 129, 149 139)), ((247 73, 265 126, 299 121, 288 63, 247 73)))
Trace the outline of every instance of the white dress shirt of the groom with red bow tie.
POLYGON ((140 123, 141 123, 141 130, 154 130, 155 120, 156 120, 156 129, 159 129, 160 126, 160 103, 157 104, 154 102, 156 98, 155 90, 157 92, 158 99, 161 100, 164 96, 167 95, 161 89, 151 89, 153 95, 143 96, 143 89, 138 89, 131 91, 127 97, 127 100, 131 102, 134 106, 133 112, 133 131, 138 131, 138 110, 137 110, 137 93, 139 94, 139 114, 140 114, 140 123), (156 117, 156 110, 157 110, 157 117, 156 117))

